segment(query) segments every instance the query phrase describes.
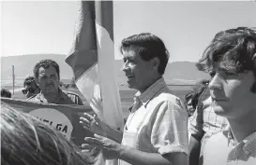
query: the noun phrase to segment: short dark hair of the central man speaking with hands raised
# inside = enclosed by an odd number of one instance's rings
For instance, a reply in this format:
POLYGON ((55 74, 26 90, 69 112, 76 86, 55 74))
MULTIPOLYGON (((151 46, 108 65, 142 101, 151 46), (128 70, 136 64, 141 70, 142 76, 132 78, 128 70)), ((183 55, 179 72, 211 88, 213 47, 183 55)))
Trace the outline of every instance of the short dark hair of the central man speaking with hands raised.
POLYGON ((158 73, 164 74, 169 60, 169 52, 158 36, 148 33, 128 36, 122 40, 120 51, 123 54, 128 50, 137 51, 144 61, 157 57, 159 59, 158 73))

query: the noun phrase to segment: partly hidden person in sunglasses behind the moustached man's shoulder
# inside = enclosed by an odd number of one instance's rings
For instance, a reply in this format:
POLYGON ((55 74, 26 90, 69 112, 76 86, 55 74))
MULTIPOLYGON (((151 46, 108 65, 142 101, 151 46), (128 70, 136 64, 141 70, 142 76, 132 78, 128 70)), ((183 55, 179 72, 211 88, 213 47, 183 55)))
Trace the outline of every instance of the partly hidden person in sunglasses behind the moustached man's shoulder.
POLYGON ((23 82, 23 87, 24 89, 22 91, 27 99, 40 92, 34 76, 26 77, 23 82))

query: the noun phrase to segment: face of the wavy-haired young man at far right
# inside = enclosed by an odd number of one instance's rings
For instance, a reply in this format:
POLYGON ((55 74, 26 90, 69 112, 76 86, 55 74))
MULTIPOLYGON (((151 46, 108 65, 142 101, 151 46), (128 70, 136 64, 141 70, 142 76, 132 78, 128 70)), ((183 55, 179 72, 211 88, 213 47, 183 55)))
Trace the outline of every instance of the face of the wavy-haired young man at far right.
POLYGON ((252 71, 236 74, 218 69, 209 84, 216 114, 228 118, 247 116, 255 109, 256 94, 250 90, 255 81, 252 71))

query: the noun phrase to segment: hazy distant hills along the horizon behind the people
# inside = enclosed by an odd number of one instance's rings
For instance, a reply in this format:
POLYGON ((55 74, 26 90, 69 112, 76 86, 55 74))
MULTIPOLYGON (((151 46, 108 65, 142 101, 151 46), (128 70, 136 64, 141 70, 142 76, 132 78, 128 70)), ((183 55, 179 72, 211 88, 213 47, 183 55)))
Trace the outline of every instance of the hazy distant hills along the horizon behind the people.
MULTIPOLYGON (((60 66, 60 78, 68 81, 73 72, 65 62, 66 55, 60 54, 33 54, 22 56, 1 57, 1 80, 11 80, 11 65, 15 66, 16 80, 23 80, 26 76, 33 75, 33 67, 43 59, 52 59, 60 66)), ((122 60, 115 61, 115 74, 119 83, 125 83, 126 77, 121 70, 122 60)), ((195 67, 195 62, 172 62, 168 63, 164 77, 171 84, 194 84, 195 81, 207 79, 209 76, 200 72, 195 67)))

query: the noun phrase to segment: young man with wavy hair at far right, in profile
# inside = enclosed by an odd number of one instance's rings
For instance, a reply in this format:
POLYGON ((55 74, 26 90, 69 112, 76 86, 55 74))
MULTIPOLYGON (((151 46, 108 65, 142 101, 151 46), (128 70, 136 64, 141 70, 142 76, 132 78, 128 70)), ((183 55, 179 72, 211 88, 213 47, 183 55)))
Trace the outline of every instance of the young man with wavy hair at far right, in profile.
POLYGON ((209 89, 218 116, 229 128, 212 135, 203 149, 203 164, 256 164, 256 31, 238 27, 219 32, 200 60, 215 71, 209 89))

